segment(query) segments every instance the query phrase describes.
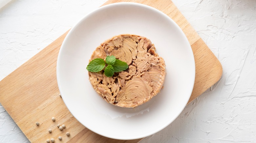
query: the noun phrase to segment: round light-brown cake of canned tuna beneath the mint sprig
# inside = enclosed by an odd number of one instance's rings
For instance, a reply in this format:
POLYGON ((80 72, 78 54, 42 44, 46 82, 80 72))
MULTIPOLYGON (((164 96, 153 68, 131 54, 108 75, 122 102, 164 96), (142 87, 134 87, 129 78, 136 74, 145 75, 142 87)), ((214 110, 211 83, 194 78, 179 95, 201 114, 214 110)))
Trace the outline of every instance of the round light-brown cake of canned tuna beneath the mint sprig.
POLYGON ((106 77, 104 71, 89 72, 96 92, 108 103, 120 107, 136 107, 160 92, 165 78, 165 62, 158 56, 154 44, 145 37, 122 34, 104 41, 91 56, 113 55, 129 68, 106 77))

